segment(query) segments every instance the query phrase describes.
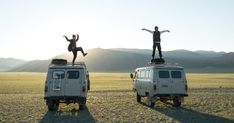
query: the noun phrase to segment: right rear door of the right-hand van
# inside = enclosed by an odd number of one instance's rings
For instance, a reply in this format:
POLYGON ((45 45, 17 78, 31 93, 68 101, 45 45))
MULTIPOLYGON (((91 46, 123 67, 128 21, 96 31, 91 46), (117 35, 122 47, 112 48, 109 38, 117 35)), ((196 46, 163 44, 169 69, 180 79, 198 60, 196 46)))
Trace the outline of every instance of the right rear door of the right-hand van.
POLYGON ((185 94, 185 76, 182 70, 172 70, 172 93, 173 94, 185 94))

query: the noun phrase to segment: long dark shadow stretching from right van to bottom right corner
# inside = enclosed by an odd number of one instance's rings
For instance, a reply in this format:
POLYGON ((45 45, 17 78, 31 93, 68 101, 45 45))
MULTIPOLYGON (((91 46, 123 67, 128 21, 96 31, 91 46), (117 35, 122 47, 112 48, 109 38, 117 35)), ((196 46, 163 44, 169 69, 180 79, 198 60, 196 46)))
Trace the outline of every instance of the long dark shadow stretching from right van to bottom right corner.
POLYGON ((194 111, 192 109, 184 107, 168 107, 153 108, 155 111, 161 112, 174 120, 177 120, 181 123, 233 123, 234 120, 226 119, 220 116, 215 116, 207 113, 202 113, 194 111))

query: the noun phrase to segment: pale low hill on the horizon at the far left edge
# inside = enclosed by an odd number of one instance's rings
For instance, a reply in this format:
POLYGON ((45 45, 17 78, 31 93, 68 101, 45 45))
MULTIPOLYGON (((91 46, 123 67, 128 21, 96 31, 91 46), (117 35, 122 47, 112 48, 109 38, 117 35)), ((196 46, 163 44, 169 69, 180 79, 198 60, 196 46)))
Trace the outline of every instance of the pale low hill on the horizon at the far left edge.
POLYGON ((23 65, 27 61, 14 58, 0 58, 0 71, 7 71, 14 67, 23 65))

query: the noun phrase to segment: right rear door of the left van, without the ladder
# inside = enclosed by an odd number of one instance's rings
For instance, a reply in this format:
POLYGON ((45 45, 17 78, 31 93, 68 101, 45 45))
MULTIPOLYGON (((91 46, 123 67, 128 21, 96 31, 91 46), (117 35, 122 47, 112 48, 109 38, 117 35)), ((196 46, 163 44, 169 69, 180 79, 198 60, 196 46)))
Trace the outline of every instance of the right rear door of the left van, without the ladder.
POLYGON ((83 69, 67 69, 65 96, 79 96, 81 94, 83 71, 83 69))

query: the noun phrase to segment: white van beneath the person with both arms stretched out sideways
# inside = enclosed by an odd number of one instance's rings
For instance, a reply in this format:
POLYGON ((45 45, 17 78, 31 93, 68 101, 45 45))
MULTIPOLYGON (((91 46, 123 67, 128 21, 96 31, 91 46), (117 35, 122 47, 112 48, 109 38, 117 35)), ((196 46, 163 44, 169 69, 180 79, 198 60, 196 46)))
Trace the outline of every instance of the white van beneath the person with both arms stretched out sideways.
POLYGON ((173 106, 179 107, 184 97, 188 96, 187 80, 181 66, 154 64, 137 68, 130 76, 133 79, 137 102, 141 102, 141 97, 147 97, 150 107, 154 107, 157 100, 172 100, 173 106))

